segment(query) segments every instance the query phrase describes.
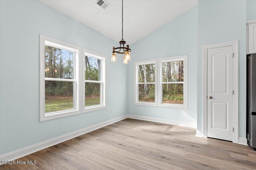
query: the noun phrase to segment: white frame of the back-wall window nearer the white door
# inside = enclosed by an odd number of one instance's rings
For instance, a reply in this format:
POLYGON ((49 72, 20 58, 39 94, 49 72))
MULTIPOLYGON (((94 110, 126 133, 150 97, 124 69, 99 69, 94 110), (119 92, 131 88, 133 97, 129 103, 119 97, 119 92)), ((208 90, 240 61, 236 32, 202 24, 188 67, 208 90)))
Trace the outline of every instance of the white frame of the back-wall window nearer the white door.
POLYGON ((179 109, 188 109, 188 55, 180 55, 158 59, 158 106, 179 109), (181 82, 162 82, 162 63, 173 61, 184 61, 184 82, 183 83, 183 104, 164 104, 162 103, 162 84, 174 84, 181 82))

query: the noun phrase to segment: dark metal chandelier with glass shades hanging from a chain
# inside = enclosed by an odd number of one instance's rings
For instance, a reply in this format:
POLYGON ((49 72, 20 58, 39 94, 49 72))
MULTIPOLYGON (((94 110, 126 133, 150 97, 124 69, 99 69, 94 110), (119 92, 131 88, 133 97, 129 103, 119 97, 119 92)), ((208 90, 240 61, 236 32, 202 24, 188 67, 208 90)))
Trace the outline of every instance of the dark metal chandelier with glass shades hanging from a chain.
POLYGON ((121 41, 119 41, 120 47, 113 47, 113 51, 112 51, 112 55, 111 55, 111 61, 112 62, 116 62, 117 58, 116 58, 116 53, 118 54, 124 54, 124 58, 123 58, 123 63, 124 64, 128 64, 129 61, 131 60, 131 49, 129 49, 129 45, 126 45, 126 47, 124 47, 124 45, 126 44, 126 41, 124 41, 124 33, 123 33, 123 26, 124 26, 124 10, 123 10, 123 0, 122 0, 122 39, 121 41))

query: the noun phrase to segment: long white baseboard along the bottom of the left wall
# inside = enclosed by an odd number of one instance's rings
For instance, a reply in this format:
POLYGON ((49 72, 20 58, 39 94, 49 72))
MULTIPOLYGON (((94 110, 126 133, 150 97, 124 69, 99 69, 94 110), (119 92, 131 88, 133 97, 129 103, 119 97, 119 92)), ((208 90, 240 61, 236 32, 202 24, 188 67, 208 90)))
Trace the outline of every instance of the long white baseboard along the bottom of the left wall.
POLYGON ((22 149, 18 149, 18 150, 15 150, 15 151, 12 151, 12 152, 9 152, 9 153, 6 153, 6 154, 2 154, 2 155, 0 155, 0 160, 15 160, 15 159, 18 159, 22 156, 26 156, 28 154, 37 152, 38 150, 42 150, 42 149, 51 147, 53 145, 56 145, 58 143, 62 143, 64 141, 67 141, 67 140, 72 139, 74 137, 78 137, 78 136, 83 135, 85 133, 88 133, 90 131, 100 129, 101 127, 110 125, 112 123, 115 123, 117 121, 120 121, 120 120, 123 120, 123 119, 126 119, 126 118, 127 118, 127 115, 116 117, 114 119, 110 119, 108 121, 104 121, 102 123, 98 123, 96 125, 92 125, 92 126, 84 128, 84 129, 80 129, 78 131, 68 133, 66 135, 55 137, 55 138, 47 140, 47 141, 43 141, 43 142, 28 146, 28 147, 25 147, 25 148, 22 148, 22 149))

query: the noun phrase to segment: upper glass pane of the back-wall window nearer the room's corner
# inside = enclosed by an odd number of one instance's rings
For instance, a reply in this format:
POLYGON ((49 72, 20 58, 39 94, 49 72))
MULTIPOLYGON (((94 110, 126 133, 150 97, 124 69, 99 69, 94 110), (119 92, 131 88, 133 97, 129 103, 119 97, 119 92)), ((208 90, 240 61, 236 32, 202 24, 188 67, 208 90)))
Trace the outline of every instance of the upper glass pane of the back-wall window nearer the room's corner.
POLYGON ((155 82, 155 64, 139 65, 139 82, 155 82))

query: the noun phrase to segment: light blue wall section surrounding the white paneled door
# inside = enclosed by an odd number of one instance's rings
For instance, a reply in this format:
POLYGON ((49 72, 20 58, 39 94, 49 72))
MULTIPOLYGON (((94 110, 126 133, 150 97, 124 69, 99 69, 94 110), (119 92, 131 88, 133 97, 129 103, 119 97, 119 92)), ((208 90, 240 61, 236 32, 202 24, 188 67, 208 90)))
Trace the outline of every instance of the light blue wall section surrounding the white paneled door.
POLYGON ((202 131, 202 45, 239 41, 239 137, 246 137, 246 1, 198 3, 198 130, 202 131))

